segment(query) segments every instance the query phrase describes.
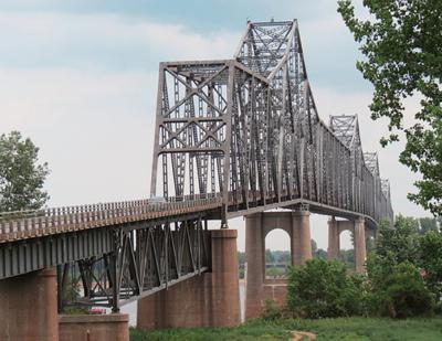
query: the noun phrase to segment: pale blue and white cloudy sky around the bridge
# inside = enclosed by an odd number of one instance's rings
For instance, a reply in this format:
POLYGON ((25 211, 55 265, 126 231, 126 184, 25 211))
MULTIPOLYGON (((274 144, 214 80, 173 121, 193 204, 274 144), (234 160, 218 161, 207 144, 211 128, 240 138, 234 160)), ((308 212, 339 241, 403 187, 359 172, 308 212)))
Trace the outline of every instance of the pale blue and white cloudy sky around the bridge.
MULTIPOLYGON (((396 213, 429 215, 406 198, 417 178, 398 162, 401 145, 378 143, 385 122, 369 119, 371 87, 355 68, 357 44, 336 7, 333 0, 2 0, 0 132, 20 130, 41 148, 52 170, 51 206, 147 198, 158 63, 230 58, 248 19, 296 18, 319 115, 328 121, 358 114, 364 150, 379 151, 396 213)), ((312 220, 323 248, 326 219, 312 220)), ((243 249, 243 221, 231 226, 243 249)), ((281 236, 269 246, 288 245, 281 236)))

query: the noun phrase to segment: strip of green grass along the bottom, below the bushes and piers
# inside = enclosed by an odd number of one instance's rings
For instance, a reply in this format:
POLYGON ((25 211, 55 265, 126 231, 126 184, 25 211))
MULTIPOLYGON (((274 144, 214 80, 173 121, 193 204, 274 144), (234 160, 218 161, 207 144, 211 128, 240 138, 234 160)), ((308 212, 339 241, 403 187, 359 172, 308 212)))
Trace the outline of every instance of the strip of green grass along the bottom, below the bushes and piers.
POLYGON ((143 332, 130 330, 131 341, 162 340, 290 340, 292 330, 312 331, 322 340, 376 341, 440 341, 442 318, 429 319, 366 319, 340 318, 322 320, 251 321, 238 328, 170 329, 143 332))

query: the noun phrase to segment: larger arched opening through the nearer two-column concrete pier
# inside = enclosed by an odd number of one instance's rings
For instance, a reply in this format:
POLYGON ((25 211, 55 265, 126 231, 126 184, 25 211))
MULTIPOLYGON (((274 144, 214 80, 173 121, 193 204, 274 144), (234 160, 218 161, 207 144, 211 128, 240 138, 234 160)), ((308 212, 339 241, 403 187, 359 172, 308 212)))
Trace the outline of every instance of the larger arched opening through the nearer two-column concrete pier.
POLYGON ((288 266, 292 264, 291 239, 290 233, 280 227, 265 235, 265 280, 287 278, 288 266))

